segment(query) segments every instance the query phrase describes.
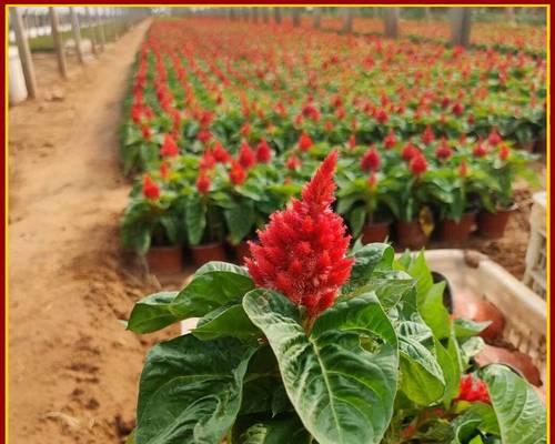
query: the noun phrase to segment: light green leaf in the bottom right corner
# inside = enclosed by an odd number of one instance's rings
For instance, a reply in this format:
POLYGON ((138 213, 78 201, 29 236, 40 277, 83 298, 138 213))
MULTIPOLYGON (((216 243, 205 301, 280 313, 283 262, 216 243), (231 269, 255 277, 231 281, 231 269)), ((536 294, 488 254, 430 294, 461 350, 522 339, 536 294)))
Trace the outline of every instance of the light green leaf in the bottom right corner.
POLYGON ((546 443, 545 406, 534 389, 503 365, 488 365, 481 371, 487 384, 504 443, 546 443))

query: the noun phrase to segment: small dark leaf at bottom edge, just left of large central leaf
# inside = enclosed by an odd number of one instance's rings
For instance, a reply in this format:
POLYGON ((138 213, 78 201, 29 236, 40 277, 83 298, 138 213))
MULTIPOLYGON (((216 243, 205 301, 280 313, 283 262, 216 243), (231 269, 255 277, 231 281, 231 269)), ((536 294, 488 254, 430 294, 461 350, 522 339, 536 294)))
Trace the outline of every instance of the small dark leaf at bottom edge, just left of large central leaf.
POLYGON ((239 438, 239 444, 310 444, 311 435, 297 417, 256 423, 239 438))

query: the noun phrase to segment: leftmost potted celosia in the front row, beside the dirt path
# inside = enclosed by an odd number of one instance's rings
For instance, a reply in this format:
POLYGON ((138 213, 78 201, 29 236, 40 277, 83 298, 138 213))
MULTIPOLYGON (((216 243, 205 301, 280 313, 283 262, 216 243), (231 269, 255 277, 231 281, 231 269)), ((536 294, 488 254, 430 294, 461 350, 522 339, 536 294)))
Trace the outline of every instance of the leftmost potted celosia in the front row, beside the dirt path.
POLYGON ((145 255, 154 273, 180 272, 183 211, 182 198, 143 175, 142 192, 135 193, 123 214, 123 245, 145 255))

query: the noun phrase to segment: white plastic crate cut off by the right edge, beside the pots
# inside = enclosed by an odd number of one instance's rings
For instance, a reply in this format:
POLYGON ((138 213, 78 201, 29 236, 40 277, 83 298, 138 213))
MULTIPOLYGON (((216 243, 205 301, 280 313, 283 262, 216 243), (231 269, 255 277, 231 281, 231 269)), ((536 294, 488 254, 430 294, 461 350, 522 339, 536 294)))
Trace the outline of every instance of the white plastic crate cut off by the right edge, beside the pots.
POLYGON ((546 193, 535 193, 534 203, 529 214, 529 241, 526 251, 526 271, 524 283, 528 285, 541 297, 545 299, 547 293, 547 234, 546 234, 546 193))

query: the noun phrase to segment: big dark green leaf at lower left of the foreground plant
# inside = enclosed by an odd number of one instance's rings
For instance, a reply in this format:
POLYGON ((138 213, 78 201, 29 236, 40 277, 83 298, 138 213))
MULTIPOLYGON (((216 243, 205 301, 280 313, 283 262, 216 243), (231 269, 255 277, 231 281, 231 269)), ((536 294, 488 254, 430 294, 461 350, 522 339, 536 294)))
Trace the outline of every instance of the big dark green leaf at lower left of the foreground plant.
POLYGON ((219 444, 235 421, 254 351, 192 335, 155 345, 141 374, 137 444, 219 444))

